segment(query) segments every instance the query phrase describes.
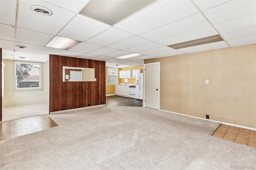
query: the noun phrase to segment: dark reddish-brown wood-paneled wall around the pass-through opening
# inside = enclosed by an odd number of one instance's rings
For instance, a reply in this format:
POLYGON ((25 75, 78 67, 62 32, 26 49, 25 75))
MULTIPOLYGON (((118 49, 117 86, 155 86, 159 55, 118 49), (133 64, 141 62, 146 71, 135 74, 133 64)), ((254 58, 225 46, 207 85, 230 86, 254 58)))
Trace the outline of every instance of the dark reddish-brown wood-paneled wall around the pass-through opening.
POLYGON ((50 112, 106 103, 105 61, 50 55, 50 112), (95 69, 96 81, 62 82, 62 66, 95 69))

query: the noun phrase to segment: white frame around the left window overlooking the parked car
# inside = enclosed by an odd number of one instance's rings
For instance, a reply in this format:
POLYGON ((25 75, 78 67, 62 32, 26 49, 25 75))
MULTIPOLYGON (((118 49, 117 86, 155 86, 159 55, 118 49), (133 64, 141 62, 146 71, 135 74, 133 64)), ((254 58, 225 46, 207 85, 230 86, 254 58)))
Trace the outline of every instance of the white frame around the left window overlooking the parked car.
MULTIPOLYGON (((14 92, 18 91, 43 91, 44 90, 44 81, 43 81, 43 63, 38 62, 31 62, 31 61, 14 61, 14 92), (22 64, 34 64, 34 65, 40 65, 40 78, 39 78, 39 87, 24 87, 24 88, 17 88, 18 81, 17 81, 17 75, 16 75, 16 63, 22 63, 22 64)), ((29 77, 29 76, 28 76, 29 77)))

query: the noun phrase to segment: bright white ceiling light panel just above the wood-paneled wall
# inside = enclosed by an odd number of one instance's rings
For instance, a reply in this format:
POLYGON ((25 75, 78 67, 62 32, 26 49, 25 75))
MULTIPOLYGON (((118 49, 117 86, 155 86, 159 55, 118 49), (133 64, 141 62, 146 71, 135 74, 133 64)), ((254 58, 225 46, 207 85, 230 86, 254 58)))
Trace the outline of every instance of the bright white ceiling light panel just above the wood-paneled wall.
POLYGON ((58 48, 58 49, 70 49, 74 47, 75 45, 81 43, 80 41, 77 40, 72 40, 69 38, 63 38, 59 36, 55 36, 52 41, 50 41, 46 47, 52 47, 52 48, 58 48))

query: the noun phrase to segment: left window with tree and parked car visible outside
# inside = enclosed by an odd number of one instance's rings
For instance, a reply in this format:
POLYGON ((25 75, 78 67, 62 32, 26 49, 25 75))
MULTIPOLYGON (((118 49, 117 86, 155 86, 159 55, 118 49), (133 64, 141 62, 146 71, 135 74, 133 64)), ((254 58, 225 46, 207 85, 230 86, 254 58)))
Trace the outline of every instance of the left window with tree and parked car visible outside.
POLYGON ((42 90, 42 63, 14 62, 15 91, 42 90))

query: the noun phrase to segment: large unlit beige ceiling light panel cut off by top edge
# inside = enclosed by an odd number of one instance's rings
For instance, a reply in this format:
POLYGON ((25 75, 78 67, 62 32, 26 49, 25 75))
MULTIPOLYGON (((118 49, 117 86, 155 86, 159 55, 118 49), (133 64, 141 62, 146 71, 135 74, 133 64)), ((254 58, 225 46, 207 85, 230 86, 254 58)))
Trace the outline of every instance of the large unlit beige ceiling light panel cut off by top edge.
POLYGON ((158 0, 91 0, 79 14, 114 26, 158 0))

